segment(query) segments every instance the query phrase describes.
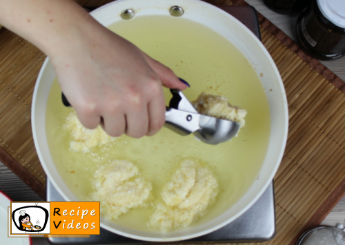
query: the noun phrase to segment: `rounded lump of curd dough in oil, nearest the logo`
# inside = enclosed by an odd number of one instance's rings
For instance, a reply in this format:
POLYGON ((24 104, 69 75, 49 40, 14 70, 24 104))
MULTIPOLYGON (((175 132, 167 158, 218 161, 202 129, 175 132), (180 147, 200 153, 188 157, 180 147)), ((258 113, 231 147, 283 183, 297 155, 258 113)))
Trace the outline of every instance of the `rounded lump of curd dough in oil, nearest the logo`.
POLYGON ((90 199, 101 202, 105 219, 118 219, 131 208, 145 206, 152 185, 139 176, 139 169, 130 161, 114 160, 100 166, 94 173, 90 199))

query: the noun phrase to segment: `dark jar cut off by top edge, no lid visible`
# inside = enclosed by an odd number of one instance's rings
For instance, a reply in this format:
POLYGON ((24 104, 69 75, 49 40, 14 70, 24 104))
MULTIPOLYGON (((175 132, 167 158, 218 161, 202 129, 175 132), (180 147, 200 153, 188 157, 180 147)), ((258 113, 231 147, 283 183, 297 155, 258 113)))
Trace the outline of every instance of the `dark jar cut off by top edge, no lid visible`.
POLYGON ((310 5, 311 0, 264 0, 266 6, 278 14, 298 14, 310 5))

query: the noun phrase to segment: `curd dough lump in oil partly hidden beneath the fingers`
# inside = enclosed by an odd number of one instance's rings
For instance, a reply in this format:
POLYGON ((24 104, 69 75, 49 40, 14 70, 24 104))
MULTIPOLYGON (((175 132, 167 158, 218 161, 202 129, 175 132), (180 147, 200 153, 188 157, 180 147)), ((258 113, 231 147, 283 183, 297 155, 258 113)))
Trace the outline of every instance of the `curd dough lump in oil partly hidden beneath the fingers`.
POLYGON ((115 140, 103 131, 101 126, 95 129, 85 128, 77 117, 75 110, 72 110, 66 117, 66 123, 63 129, 70 132, 72 141, 70 141, 70 150, 81 151, 86 153, 90 148, 95 146, 103 146, 115 140))

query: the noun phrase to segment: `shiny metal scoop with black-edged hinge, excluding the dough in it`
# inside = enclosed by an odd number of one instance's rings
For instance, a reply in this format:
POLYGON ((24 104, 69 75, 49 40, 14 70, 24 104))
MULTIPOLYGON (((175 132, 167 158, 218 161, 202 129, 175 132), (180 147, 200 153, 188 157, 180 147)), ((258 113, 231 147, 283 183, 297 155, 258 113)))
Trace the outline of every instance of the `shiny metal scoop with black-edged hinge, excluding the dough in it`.
POLYGON ((206 144, 229 141, 239 132, 239 123, 201 115, 179 90, 170 89, 172 99, 166 108, 166 128, 179 135, 190 135, 206 144))

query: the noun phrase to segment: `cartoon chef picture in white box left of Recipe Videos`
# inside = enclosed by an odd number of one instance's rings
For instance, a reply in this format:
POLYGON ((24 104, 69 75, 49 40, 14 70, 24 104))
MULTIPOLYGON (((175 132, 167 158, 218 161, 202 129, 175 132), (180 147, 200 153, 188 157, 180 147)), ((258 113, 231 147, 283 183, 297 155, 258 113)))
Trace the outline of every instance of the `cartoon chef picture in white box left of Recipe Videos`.
POLYGON ((20 203, 12 202, 12 234, 23 233, 50 233, 49 226, 49 203, 35 203, 34 205, 21 206, 20 203))

